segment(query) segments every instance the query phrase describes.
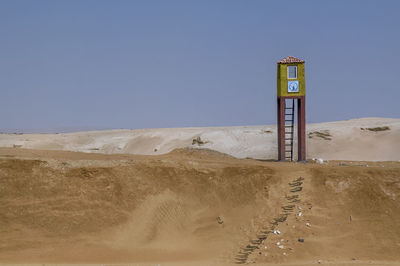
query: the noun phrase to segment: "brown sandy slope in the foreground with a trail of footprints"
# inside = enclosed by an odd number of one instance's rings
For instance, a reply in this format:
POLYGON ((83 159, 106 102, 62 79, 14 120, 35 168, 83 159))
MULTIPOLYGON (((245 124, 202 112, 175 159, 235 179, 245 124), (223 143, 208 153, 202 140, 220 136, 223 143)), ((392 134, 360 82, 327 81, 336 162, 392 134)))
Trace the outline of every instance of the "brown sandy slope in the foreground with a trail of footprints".
POLYGON ((399 265, 399 200, 399 162, 0 148, 0 263, 399 265))

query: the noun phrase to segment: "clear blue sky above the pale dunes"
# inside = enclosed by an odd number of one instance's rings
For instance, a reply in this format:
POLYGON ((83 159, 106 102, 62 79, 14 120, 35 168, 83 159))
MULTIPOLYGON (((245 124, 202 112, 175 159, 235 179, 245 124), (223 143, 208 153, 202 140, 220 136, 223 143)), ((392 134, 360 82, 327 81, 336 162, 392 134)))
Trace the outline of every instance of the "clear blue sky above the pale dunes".
POLYGON ((400 1, 0 1, 0 128, 273 124, 276 61, 308 122, 400 118, 400 1))

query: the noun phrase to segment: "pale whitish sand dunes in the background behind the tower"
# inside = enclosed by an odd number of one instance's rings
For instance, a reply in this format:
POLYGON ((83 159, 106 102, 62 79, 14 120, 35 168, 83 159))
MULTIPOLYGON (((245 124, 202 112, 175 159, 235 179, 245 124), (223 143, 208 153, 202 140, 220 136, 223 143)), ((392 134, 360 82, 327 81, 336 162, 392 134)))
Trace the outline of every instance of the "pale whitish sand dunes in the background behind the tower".
MULTIPOLYGON (((400 160, 400 119, 363 118, 307 125, 307 157, 400 160), (385 128, 387 127, 387 128, 385 128), (377 130, 374 130, 377 129, 377 130)), ((0 147, 159 155, 177 148, 216 150, 236 158, 276 159, 276 126, 0 134, 0 147), (193 142, 199 138, 199 142, 193 142)))

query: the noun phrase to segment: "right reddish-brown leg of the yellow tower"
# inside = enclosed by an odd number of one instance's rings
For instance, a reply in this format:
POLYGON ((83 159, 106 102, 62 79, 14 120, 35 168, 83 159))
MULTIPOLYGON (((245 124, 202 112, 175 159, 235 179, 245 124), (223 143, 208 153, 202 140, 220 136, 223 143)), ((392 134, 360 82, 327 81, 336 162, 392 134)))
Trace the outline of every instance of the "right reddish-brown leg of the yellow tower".
POLYGON ((306 97, 297 100, 298 161, 306 160, 306 97))

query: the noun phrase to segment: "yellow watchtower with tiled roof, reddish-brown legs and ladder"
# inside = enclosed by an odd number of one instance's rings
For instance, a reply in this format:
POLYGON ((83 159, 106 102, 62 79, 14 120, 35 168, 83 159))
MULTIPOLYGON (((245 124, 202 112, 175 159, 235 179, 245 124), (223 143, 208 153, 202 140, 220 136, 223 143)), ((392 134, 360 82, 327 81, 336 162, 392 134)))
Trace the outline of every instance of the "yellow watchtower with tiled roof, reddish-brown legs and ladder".
POLYGON ((297 107, 297 160, 306 160, 306 83, 304 60, 288 56, 278 61, 278 160, 293 161, 297 107), (297 104, 296 104, 297 102, 297 104))

